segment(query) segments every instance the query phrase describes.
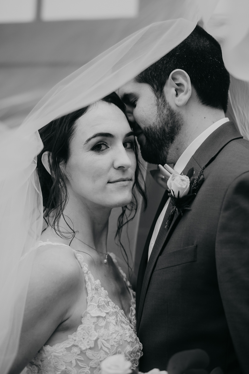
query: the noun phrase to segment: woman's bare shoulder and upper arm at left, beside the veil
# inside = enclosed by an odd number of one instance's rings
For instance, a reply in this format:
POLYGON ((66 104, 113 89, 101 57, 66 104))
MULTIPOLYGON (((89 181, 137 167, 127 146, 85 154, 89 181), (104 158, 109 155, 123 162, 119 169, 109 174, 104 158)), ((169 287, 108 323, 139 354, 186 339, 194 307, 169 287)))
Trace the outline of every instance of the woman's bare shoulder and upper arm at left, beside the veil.
POLYGON ((67 326, 74 327, 75 306, 80 300, 85 310, 86 292, 83 271, 70 247, 46 244, 35 249, 20 343, 29 359, 60 324, 68 321, 67 326))

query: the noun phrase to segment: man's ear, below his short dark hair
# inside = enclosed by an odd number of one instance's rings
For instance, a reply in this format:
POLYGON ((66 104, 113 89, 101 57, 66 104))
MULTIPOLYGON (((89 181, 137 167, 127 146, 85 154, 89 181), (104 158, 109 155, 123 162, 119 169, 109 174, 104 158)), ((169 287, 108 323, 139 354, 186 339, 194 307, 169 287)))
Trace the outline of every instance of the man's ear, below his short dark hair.
POLYGON ((166 98, 178 107, 183 107, 189 101, 192 93, 189 74, 181 69, 173 70, 165 84, 166 98))

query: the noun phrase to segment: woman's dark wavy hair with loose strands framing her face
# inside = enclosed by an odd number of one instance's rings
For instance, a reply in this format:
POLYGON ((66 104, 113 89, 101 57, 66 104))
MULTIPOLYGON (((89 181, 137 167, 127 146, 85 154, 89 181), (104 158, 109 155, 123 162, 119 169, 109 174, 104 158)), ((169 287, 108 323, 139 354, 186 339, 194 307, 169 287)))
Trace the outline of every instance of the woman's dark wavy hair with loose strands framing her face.
MULTIPOLYGON (((125 105, 115 92, 105 96, 100 101, 116 105, 125 114, 125 105)), ((71 227, 65 220, 63 214, 68 202, 68 191, 66 187, 66 176, 63 173, 61 165, 65 166, 68 162, 70 156, 69 145, 75 134, 76 122, 84 113, 86 113, 88 108, 89 106, 66 114, 63 117, 51 121, 39 130, 44 145, 43 150, 37 156, 37 172, 43 196, 43 216, 47 225, 51 226, 60 237, 66 239, 74 239, 76 232, 74 227, 71 227), (44 152, 48 152, 48 162, 51 175, 47 172, 41 161, 44 152), (53 217, 52 220, 51 217, 53 217), (70 232, 67 233, 60 230, 59 221, 61 217, 64 218, 68 228, 71 230, 71 234, 70 232), (70 234, 71 236, 68 237, 66 234, 70 234)), ((137 167, 132 189, 133 198, 129 205, 122 206, 122 212, 118 217, 117 231, 115 235, 115 239, 118 240, 118 244, 123 249, 122 255, 129 268, 127 252, 121 242, 122 229, 136 215, 138 208, 137 193, 142 197, 144 209, 146 209, 147 206, 145 183, 141 174, 140 162, 138 160, 138 146, 136 140, 134 142, 134 152, 136 155, 137 167)))

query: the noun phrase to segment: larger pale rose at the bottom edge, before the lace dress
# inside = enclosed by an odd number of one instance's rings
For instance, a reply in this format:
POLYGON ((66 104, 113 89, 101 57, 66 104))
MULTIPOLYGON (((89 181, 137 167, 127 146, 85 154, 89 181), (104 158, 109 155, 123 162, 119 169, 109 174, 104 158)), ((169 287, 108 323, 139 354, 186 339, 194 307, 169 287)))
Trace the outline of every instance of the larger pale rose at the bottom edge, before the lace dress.
POLYGON ((101 362, 102 374, 130 374, 131 372, 131 362, 127 361, 124 355, 109 356, 101 362))

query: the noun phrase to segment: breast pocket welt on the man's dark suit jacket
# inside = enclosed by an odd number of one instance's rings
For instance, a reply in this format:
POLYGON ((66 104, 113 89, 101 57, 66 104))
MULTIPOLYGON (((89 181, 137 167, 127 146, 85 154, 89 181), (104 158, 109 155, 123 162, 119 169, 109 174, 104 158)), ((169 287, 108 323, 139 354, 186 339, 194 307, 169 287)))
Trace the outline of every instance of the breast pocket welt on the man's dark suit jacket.
POLYGON ((158 257, 155 272, 156 270, 164 269, 166 267, 196 261, 196 248, 197 245, 194 244, 189 247, 177 249, 176 251, 163 252, 162 255, 158 257))

